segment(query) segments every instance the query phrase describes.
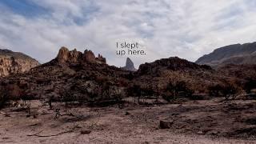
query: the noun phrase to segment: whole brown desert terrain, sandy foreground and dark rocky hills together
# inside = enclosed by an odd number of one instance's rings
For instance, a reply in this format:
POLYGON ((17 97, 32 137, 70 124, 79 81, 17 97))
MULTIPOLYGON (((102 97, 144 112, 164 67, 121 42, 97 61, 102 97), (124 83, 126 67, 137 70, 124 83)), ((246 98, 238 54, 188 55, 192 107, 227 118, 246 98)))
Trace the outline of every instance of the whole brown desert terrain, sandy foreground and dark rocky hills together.
POLYGON ((172 57, 134 70, 62 47, 26 72, 2 69, 1 142, 254 143, 255 67, 172 57))

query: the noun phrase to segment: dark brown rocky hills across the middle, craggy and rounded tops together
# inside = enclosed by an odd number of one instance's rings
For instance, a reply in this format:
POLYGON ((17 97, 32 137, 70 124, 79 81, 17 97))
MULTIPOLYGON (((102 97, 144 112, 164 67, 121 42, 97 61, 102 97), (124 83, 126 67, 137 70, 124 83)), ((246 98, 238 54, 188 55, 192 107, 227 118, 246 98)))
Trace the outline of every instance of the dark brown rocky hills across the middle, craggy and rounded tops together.
MULTIPOLYGON (((129 62, 128 62, 129 64, 129 62)), ((166 95, 170 82, 185 82, 196 94, 206 94, 209 86, 235 83, 242 86, 247 72, 255 72, 256 66, 227 66, 217 70, 198 65, 186 59, 171 57, 139 66, 137 71, 109 66, 101 54, 95 57, 90 50, 83 53, 62 47, 56 58, 31 69, 27 73, 1 78, 0 86, 10 92, 11 98, 26 95, 30 98, 65 98, 95 102, 130 97, 138 94, 166 95), (139 87, 139 89, 138 89, 139 87), (143 90, 143 91, 142 91, 143 90)))

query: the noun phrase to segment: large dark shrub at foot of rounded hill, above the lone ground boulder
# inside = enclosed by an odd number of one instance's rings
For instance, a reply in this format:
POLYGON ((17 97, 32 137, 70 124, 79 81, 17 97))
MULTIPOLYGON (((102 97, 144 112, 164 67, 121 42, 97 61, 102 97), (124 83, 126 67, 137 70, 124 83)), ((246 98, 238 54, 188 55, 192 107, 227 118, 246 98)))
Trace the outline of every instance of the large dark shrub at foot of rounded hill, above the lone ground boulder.
POLYGON ((191 90, 184 81, 169 82, 166 86, 166 92, 170 94, 164 95, 163 98, 168 101, 171 98, 176 99, 178 97, 191 98, 192 94, 194 94, 194 90, 191 90))

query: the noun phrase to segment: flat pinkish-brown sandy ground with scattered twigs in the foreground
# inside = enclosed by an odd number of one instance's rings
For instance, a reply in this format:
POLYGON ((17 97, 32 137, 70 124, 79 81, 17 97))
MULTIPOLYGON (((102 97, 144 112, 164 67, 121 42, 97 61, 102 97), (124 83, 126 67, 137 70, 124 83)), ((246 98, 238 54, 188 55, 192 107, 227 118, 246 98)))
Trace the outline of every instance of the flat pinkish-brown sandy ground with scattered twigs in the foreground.
POLYGON ((20 107, 1 110, 0 142, 256 143, 256 122, 250 121, 255 118, 254 101, 223 104, 210 100, 150 107, 126 104, 124 109, 72 106, 65 110, 61 104, 53 105, 50 110, 41 102, 32 102, 30 117, 20 107), (56 109, 61 109, 59 118, 54 118, 56 109), (172 127, 159 129, 160 120, 173 122, 172 127), (90 134, 81 134, 85 130, 90 134))

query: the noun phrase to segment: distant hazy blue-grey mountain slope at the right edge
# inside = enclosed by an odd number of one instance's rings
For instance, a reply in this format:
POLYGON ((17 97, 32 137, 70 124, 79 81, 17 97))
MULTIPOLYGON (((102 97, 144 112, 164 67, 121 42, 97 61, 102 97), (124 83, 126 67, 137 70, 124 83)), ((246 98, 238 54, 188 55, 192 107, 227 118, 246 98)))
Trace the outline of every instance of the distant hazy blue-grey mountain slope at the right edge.
POLYGON ((209 66, 256 64, 256 42, 218 48, 212 53, 198 58, 196 63, 209 66))

